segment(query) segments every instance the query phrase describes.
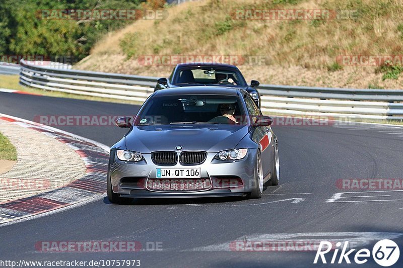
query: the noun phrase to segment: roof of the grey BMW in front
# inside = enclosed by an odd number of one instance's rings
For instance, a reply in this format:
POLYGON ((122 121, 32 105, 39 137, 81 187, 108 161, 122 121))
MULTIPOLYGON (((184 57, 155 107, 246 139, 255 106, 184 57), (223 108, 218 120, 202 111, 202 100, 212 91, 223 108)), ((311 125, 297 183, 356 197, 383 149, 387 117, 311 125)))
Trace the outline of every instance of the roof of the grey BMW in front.
POLYGON ((238 96, 238 92, 240 91, 239 88, 225 86, 182 86, 164 88, 155 92, 153 97, 191 94, 238 96))

